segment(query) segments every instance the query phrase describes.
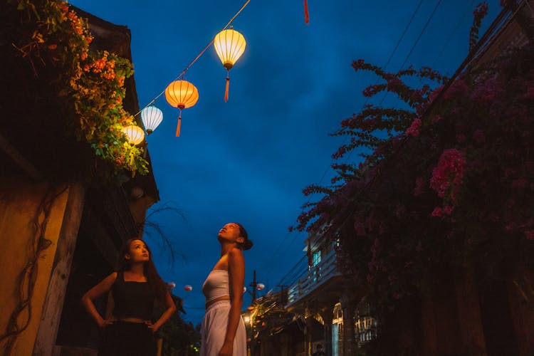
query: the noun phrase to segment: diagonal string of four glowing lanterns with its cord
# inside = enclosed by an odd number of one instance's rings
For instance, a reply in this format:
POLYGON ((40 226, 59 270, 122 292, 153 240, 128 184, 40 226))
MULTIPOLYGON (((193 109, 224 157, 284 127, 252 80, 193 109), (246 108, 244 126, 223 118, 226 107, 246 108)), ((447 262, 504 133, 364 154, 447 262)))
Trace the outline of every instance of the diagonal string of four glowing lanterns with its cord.
MULTIPOLYGON (((241 6, 241 9, 239 9, 229 23, 224 26, 223 30, 216 34, 208 46, 206 46, 206 48, 199 53, 199 56, 197 56, 197 58, 195 58, 194 61, 192 61, 192 63, 190 63, 189 66, 187 66, 187 68, 180 75, 178 75, 176 80, 173 80, 172 83, 167 85, 167 88, 165 88, 162 93, 157 95, 157 97, 154 98, 147 106, 145 106, 145 108, 140 110, 140 112, 137 112, 137 114, 141 115, 142 125, 145 127, 147 135, 150 135, 152 132, 154 132, 154 130, 156 130, 158 125, 163 120, 162 110, 159 110, 159 108, 152 105, 152 103, 155 103, 157 98, 164 93, 167 103, 169 103, 169 105, 171 105, 173 108, 177 108, 179 110, 176 129, 176 136, 179 137, 180 127, 182 124, 182 110, 191 108, 199 100, 199 90, 197 87, 195 87, 192 83, 189 83, 187 80, 183 80, 181 78, 187 72, 187 70, 189 70, 192 64, 204 53, 204 51, 211 46, 211 44, 213 44, 217 56, 219 56, 223 67, 226 69, 227 74, 224 102, 226 103, 228 101, 230 83, 229 72, 230 69, 234 67, 236 61, 244 53, 246 47, 244 36, 238 31, 235 31, 230 25, 236 16, 239 15, 239 13, 245 8, 248 2, 250 2, 250 0, 247 0, 246 3, 241 6), (229 26, 230 28, 228 28, 229 26)), ((143 140, 145 140, 145 132, 136 125, 125 127, 123 132, 125 132, 125 135, 127 135, 130 145, 139 145, 143 140), (135 129, 134 127, 137 127, 139 130, 135 129)))

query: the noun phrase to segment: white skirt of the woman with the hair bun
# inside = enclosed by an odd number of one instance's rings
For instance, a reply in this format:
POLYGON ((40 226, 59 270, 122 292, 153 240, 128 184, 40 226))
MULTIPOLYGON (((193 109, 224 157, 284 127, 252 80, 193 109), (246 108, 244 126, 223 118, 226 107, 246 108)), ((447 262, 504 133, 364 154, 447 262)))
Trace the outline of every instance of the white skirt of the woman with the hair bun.
MULTIPOLYGON (((200 356, 218 356, 224 343, 230 300, 221 300, 209 305, 202 320, 200 356)), ((243 318, 239 317, 236 337, 234 337, 234 356, 246 356, 246 330, 243 318)))

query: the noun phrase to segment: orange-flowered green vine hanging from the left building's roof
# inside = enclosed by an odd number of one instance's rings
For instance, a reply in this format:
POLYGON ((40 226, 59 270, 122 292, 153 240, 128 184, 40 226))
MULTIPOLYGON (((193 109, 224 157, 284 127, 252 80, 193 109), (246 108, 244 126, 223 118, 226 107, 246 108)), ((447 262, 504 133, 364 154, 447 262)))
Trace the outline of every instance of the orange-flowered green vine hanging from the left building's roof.
POLYGON ((19 0, 17 9, 35 28, 23 45, 14 45, 27 58, 36 75, 39 63, 61 70, 57 88, 72 115, 70 132, 87 142, 95 155, 110 162, 116 171, 148 172, 142 148, 130 145, 122 128, 134 117, 125 110, 125 79, 132 64, 107 51, 93 51, 88 21, 80 18, 65 1, 19 0))

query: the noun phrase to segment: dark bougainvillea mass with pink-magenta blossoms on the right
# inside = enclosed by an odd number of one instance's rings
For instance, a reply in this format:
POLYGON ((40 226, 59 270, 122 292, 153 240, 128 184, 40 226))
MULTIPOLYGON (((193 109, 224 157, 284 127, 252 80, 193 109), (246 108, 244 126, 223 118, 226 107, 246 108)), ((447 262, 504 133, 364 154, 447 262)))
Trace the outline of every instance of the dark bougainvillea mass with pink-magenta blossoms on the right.
MULTIPOLYGON (((476 7, 475 26, 486 11, 476 7)), ((334 135, 351 140, 334 157, 358 149, 365 162, 334 164, 333 185, 305 189, 323 198, 305 207, 296 228, 337 239, 340 266, 384 303, 424 293, 436 268, 471 263, 484 278, 499 278, 498 266, 530 266, 533 57, 530 41, 451 83, 429 68, 385 73, 355 61, 355 70, 384 80, 365 96, 387 90, 402 105, 367 105, 341 122, 334 135)))

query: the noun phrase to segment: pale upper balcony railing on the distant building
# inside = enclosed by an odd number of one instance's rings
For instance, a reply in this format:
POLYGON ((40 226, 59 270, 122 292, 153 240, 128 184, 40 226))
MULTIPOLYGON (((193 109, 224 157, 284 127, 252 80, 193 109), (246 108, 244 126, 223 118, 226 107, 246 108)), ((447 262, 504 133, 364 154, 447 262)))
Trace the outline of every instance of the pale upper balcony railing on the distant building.
POLYGON ((303 278, 288 288, 288 305, 312 293, 330 278, 341 275, 337 270, 335 257, 335 251, 331 250, 317 265, 308 268, 308 273, 303 278))

